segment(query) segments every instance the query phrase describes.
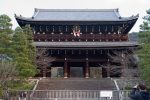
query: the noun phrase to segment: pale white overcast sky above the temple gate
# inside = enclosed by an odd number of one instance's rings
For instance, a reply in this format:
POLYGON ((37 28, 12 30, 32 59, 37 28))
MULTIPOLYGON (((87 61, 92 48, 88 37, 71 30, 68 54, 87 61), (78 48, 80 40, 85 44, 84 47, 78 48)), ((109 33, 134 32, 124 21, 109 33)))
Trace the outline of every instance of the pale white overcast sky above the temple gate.
POLYGON ((43 9, 112 9, 119 8, 122 17, 139 14, 140 17, 131 32, 139 31, 139 25, 146 10, 150 9, 150 0, 0 0, 0 14, 7 14, 18 26, 14 14, 31 17, 34 8, 43 9))

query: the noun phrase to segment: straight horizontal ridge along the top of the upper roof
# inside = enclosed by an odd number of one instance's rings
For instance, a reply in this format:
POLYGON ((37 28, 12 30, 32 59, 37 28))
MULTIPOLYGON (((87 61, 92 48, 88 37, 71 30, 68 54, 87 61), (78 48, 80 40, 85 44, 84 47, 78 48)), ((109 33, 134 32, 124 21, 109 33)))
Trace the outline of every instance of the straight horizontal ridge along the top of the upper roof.
POLYGON ((114 12, 117 11, 118 8, 116 9, 39 9, 35 8, 35 12, 41 11, 41 12, 90 12, 90 11, 95 11, 95 12, 114 12))

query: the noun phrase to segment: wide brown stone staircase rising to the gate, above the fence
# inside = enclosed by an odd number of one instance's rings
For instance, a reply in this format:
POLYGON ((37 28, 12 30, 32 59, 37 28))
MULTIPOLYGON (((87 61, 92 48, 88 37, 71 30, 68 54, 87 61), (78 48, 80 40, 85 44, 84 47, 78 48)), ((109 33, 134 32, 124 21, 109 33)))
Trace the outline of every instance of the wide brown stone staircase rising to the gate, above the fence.
POLYGON ((45 78, 39 81, 36 90, 116 90, 109 78, 45 78))

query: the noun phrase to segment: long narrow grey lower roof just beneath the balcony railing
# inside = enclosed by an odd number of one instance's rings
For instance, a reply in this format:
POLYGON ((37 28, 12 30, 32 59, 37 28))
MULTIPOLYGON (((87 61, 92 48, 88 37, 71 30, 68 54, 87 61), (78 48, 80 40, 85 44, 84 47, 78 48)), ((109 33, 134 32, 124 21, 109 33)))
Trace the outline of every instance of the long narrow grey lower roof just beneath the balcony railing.
POLYGON ((136 47, 137 42, 34 42, 37 47, 51 48, 109 48, 109 47, 136 47))

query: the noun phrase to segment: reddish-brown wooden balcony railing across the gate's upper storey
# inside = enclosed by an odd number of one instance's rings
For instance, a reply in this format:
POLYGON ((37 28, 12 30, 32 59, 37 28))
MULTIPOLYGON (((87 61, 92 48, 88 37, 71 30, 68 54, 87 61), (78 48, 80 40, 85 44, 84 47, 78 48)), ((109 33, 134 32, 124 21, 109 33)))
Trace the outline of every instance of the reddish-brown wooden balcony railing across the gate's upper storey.
POLYGON ((34 41, 128 41, 128 35, 123 34, 34 34, 34 41))

